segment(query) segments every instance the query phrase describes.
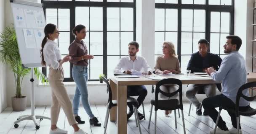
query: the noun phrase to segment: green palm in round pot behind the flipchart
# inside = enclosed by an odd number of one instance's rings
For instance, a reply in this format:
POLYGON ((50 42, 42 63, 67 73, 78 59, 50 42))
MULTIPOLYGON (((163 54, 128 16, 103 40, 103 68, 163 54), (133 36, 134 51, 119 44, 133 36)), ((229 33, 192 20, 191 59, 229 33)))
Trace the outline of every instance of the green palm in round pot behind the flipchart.
MULTIPOLYGON (((31 68, 23 68, 19 55, 19 48, 14 28, 7 27, 0 34, 0 62, 8 64, 14 73, 16 95, 11 98, 13 111, 24 111, 27 107, 27 97, 21 93, 21 85, 24 76, 30 74, 31 68)), ((43 82, 47 82, 47 77, 39 70, 34 68, 36 77, 43 82)))

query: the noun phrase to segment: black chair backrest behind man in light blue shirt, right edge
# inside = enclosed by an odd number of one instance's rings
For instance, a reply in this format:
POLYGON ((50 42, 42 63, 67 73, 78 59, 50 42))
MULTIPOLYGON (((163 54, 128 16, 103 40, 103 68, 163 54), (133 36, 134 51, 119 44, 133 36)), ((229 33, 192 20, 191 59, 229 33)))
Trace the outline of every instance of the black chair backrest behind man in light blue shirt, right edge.
MULTIPOLYGON (((248 88, 253 88, 253 87, 256 87, 256 82, 248 82, 248 83, 245 83, 244 85, 242 85, 239 88, 239 90, 237 91, 237 97, 236 97, 236 101, 235 101, 235 111, 236 111, 237 115, 239 112, 240 98, 244 98, 246 101, 253 101, 256 98, 256 95, 253 97, 248 97, 243 94, 243 90, 246 90, 248 88)), ((255 115, 255 114, 256 114, 256 111, 253 113, 253 115, 255 115)))

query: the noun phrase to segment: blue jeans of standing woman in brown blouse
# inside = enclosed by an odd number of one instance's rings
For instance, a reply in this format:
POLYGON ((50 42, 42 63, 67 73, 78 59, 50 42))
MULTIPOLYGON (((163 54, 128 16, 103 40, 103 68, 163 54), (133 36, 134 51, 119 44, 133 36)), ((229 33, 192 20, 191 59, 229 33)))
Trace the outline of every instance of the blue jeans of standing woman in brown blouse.
POLYGON ((78 108, 80 103, 80 97, 82 96, 83 108, 85 108, 86 113, 90 118, 93 118, 93 112, 88 101, 88 72, 86 66, 76 66, 72 68, 72 76, 77 85, 75 89, 75 96, 73 99, 73 111, 75 115, 78 115, 78 108))

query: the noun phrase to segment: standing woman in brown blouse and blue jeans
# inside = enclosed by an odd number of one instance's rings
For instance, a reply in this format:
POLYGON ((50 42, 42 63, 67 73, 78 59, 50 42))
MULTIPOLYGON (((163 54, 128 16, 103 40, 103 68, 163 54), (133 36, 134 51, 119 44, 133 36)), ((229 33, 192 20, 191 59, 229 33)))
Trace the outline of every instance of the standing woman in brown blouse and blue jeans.
POLYGON ((78 108, 80 104, 80 97, 82 98, 83 107, 90 117, 90 124, 94 126, 101 126, 98 119, 93 115, 91 106, 88 101, 88 60, 93 59, 93 55, 88 54, 87 46, 84 44, 83 39, 86 36, 86 28, 83 25, 77 25, 72 30, 75 40, 69 46, 69 54, 72 54, 72 59, 69 61, 73 63, 72 77, 77 85, 75 89, 75 96, 73 99, 73 111, 75 119, 78 124, 84 124, 81 117, 78 116, 78 108))

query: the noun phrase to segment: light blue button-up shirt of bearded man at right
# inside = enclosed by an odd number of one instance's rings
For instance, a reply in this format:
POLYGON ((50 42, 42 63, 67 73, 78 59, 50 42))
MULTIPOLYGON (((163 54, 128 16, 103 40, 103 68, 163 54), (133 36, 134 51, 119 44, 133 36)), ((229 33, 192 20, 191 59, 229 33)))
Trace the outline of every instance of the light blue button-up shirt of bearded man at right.
MULTIPOLYGON (((230 52, 222 60, 219 70, 211 73, 211 78, 222 81, 222 94, 235 103, 238 89, 247 82, 245 59, 238 51, 230 52)), ((248 89, 243 90, 243 94, 249 96, 248 89)), ((239 105, 248 106, 249 102, 241 98, 239 105)))

